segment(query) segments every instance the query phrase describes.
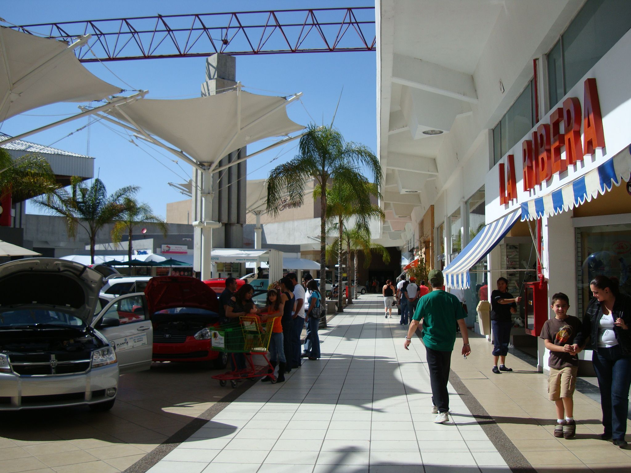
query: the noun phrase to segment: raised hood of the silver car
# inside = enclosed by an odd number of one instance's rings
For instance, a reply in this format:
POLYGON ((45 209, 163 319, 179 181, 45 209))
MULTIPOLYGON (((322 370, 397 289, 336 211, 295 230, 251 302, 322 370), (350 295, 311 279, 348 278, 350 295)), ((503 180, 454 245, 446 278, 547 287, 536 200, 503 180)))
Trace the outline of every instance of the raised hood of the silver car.
POLYGON ((28 258, 0 264, 0 311, 57 310, 90 325, 103 286, 102 274, 57 258, 28 258))

